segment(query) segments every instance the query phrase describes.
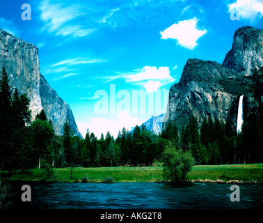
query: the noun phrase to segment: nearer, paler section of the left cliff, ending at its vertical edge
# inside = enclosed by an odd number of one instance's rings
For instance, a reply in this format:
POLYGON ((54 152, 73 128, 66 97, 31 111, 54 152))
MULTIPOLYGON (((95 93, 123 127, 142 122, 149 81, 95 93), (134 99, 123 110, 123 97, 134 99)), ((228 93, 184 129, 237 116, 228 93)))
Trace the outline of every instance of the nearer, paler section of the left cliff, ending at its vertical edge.
POLYGON ((6 68, 9 84, 30 99, 32 116, 42 109, 38 47, 0 29, 0 68, 6 68))

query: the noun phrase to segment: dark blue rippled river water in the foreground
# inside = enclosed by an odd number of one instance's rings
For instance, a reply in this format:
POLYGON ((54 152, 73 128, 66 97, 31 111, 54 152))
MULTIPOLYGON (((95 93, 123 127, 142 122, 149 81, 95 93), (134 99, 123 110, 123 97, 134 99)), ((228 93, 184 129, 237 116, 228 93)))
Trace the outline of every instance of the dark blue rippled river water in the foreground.
MULTIPOLYGON (((30 185, 30 183, 29 183, 30 185)), ((230 201, 231 185, 188 183, 50 183, 31 185, 26 208, 262 208, 261 185, 239 185, 240 201, 230 201)))

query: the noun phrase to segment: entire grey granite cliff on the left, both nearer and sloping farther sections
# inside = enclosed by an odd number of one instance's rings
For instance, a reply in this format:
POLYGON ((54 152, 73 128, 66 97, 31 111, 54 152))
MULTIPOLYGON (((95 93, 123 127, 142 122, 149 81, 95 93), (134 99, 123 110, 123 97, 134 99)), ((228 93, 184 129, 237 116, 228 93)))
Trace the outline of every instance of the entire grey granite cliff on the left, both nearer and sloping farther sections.
POLYGON ((38 47, 0 29, 0 68, 6 68, 12 90, 30 99, 32 120, 43 108, 54 123, 56 134, 63 134, 68 119, 74 134, 81 136, 72 111, 40 74, 38 47))

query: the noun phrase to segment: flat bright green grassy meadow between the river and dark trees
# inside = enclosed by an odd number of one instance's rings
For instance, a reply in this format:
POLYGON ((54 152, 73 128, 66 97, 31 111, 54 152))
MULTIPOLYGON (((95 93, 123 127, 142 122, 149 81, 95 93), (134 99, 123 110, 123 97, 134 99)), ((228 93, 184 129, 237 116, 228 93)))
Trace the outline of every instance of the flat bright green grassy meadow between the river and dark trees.
MULTIPOLYGON (((58 182, 162 182, 162 167, 96 167, 74 168, 70 178, 70 168, 53 169, 58 182)), ((1 174, 3 176, 3 174, 1 174)), ((13 174, 9 180, 44 180, 40 169, 31 174, 13 174)), ((231 164, 194 166, 187 174, 186 181, 206 183, 263 183, 263 164, 231 164)))

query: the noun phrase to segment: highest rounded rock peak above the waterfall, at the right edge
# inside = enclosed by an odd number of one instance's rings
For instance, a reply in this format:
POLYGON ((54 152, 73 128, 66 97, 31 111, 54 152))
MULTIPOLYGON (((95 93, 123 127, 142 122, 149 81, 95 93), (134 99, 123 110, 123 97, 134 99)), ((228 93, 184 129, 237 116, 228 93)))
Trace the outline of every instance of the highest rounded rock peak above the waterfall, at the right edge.
POLYGON ((225 68, 252 75, 263 66, 263 30, 244 26, 234 33, 232 49, 223 61, 225 68))

